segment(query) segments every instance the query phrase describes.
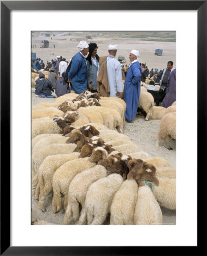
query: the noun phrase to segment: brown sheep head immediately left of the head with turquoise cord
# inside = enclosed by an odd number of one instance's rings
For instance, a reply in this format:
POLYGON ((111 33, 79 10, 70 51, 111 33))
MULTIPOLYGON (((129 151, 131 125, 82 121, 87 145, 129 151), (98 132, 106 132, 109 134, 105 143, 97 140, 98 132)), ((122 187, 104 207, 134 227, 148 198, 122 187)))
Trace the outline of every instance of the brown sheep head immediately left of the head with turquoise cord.
POLYGON ((143 172, 143 160, 142 159, 131 159, 127 163, 127 166, 129 167, 129 174, 127 175, 127 179, 135 179, 138 180, 140 179, 140 175, 142 175, 143 172))

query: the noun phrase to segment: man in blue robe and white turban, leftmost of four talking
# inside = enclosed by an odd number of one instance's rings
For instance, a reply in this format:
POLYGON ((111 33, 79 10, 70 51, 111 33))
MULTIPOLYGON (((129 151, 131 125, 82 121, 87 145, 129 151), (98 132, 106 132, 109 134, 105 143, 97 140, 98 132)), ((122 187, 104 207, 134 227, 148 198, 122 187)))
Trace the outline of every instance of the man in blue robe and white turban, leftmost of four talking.
POLYGON ((87 90, 87 64, 85 56, 89 52, 89 45, 85 41, 78 44, 79 52, 72 58, 71 69, 68 72, 68 83, 71 82, 71 90, 81 94, 87 90))

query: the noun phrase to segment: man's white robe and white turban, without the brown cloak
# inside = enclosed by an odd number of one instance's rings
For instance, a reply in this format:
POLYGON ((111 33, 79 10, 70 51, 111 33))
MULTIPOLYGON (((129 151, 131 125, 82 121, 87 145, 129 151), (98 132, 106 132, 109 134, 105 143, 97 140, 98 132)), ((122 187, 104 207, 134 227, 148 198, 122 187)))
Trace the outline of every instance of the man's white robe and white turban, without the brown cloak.
POLYGON ((110 87, 110 96, 109 97, 118 97, 119 94, 123 92, 122 87, 122 71, 121 63, 115 59, 117 54, 117 45, 113 46, 110 44, 108 46, 109 55, 107 56, 107 76, 110 87))

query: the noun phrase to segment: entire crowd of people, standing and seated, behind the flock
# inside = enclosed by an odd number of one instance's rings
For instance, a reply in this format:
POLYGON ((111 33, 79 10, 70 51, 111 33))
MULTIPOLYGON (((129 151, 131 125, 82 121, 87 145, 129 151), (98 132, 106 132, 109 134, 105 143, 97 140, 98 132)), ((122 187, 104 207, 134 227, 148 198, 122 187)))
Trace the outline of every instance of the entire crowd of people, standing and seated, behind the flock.
POLYGON ((129 52, 130 64, 124 66, 115 59, 117 45, 110 44, 107 47, 109 54, 101 57, 97 54, 96 43, 81 41, 77 48, 78 52, 69 61, 56 56, 56 59, 47 61, 46 65, 40 58, 32 64, 36 71, 44 69, 50 72, 48 79, 45 79, 42 72, 39 74, 35 94, 40 97, 59 97, 72 90, 77 94, 90 90, 103 97, 119 97, 123 92, 126 122, 133 122, 136 117, 140 84, 141 81, 146 82, 147 77, 153 77, 148 90, 156 90, 155 84, 159 84, 160 90, 165 93, 161 106, 167 108, 171 101, 175 101, 176 71, 172 61, 168 61, 167 67, 159 72, 157 68, 150 71, 146 63, 139 63, 139 51, 136 49, 129 52))

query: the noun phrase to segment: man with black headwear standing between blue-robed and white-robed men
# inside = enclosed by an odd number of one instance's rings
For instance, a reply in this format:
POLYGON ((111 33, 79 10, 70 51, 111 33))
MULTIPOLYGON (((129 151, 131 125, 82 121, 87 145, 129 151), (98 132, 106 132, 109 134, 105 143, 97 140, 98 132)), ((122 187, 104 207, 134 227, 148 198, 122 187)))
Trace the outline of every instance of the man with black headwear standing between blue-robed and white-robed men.
POLYGON ((97 76, 99 68, 99 56, 97 55, 97 44, 89 43, 89 53, 86 57, 87 70, 88 70, 88 88, 91 92, 97 92, 97 76))

